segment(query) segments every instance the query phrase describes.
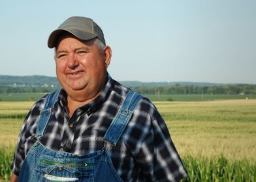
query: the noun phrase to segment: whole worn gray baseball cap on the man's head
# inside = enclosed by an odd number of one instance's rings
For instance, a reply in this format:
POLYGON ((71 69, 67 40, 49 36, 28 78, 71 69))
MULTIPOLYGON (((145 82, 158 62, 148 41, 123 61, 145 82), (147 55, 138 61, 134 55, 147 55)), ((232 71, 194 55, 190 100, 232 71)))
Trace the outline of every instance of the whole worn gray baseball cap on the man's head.
POLYGON ((101 27, 99 27, 99 25, 97 25, 91 18, 82 16, 68 18, 50 34, 48 38, 49 48, 56 47, 57 39, 61 32, 70 32, 80 40, 91 40, 97 37, 104 45, 106 45, 101 27))

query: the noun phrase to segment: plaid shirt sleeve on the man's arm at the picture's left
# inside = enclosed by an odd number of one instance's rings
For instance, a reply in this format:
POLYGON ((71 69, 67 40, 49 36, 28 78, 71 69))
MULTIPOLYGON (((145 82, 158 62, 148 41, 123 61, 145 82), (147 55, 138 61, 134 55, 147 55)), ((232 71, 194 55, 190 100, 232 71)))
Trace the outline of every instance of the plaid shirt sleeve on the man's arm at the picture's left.
POLYGON ((25 160, 25 156, 35 142, 34 136, 36 131, 36 123, 43 101, 44 99, 40 99, 33 105, 22 124, 22 129, 20 130, 20 134, 18 136, 18 142, 16 145, 13 161, 10 165, 10 168, 15 175, 19 175, 22 164, 25 160))

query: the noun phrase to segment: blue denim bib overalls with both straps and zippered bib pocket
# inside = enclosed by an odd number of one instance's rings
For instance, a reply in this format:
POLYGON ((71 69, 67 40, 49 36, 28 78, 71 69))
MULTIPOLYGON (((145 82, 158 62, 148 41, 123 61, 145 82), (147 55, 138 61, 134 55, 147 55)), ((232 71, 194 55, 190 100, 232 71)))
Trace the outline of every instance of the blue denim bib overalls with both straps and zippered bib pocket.
POLYGON ((75 155, 65 151, 54 151, 40 143, 40 137, 44 135, 58 94, 59 91, 53 92, 46 98, 37 125, 37 141, 25 157, 18 181, 122 181, 112 164, 108 147, 117 144, 142 96, 133 91, 128 92, 118 114, 104 135, 103 150, 75 155))

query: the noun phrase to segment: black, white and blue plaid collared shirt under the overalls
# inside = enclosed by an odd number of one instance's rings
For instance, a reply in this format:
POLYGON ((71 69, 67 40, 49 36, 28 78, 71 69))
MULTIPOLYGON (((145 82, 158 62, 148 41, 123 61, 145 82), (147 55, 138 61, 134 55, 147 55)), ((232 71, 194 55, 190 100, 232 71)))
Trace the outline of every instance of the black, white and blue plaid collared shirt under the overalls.
MULTIPOLYGON (((108 76, 103 92, 91 103, 67 112, 67 94, 61 90, 57 109, 40 142, 47 148, 82 155, 103 149, 103 136, 116 116, 129 88, 108 76)), ((22 125, 12 172, 18 175, 46 97, 33 105, 22 125)), ((116 146, 110 148, 116 172, 123 181, 179 181, 187 174, 163 118, 149 99, 142 98, 116 146)))

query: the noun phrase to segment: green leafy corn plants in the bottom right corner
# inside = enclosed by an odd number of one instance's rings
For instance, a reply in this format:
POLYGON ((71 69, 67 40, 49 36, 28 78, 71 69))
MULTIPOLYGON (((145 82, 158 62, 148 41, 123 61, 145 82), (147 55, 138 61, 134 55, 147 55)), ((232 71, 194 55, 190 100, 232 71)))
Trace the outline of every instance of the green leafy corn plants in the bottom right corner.
POLYGON ((182 181, 255 181, 256 164, 242 161, 228 161, 222 155, 210 158, 184 157, 184 166, 189 177, 182 181))

